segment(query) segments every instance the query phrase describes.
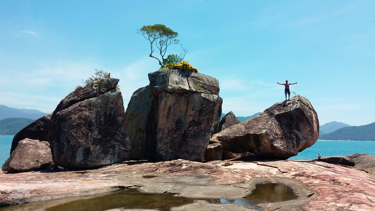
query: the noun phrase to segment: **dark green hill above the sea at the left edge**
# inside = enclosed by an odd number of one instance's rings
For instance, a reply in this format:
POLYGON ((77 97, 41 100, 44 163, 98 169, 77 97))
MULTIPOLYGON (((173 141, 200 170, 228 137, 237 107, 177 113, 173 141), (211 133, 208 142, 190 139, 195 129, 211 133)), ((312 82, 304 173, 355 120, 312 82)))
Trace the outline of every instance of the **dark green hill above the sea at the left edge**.
POLYGON ((26 118, 6 118, 0 120, 0 136, 13 136, 24 127, 34 122, 26 118))

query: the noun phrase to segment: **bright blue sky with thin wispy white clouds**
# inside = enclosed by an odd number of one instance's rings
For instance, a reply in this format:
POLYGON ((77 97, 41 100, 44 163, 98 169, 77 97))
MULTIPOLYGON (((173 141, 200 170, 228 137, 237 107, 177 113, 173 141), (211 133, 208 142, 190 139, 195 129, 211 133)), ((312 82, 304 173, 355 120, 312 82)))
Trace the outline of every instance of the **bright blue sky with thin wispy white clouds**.
POLYGON ((52 112, 102 69, 126 107, 159 69, 136 34, 151 24, 178 32, 185 60, 219 79, 224 113, 263 112, 289 80, 320 124, 375 122, 373 1, 1 1, 0 104, 52 112))

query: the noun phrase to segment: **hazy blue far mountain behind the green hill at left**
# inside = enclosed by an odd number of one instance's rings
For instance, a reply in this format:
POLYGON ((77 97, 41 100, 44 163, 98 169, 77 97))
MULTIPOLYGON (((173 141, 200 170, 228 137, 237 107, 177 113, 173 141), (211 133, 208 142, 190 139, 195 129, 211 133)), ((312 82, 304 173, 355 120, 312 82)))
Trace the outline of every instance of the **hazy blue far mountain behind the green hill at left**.
POLYGON ((0 105, 0 120, 6 118, 27 118, 35 120, 47 114, 48 113, 43 113, 35 109, 16 109, 0 105))

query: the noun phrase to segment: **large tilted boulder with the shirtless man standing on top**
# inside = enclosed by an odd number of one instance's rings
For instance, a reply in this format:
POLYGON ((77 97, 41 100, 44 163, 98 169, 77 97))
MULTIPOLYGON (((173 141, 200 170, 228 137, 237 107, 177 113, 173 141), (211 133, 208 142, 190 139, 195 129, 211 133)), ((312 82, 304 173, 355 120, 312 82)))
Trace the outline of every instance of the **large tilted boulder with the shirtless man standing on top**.
POLYGON ((214 134, 211 143, 220 143, 229 152, 287 159, 312 146, 318 136, 317 112, 308 99, 297 95, 214 134))

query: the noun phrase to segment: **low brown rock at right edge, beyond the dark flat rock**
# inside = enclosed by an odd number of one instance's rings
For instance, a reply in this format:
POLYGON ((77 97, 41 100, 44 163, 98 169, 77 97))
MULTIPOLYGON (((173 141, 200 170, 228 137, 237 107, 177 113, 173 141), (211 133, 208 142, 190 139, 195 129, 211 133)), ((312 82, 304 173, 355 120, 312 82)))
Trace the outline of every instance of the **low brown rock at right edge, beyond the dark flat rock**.
POLYGON ((361 169, 375 177, 375 156, 364 153, 356 153, 347 156, 354 161, 354 167, 361 169))

